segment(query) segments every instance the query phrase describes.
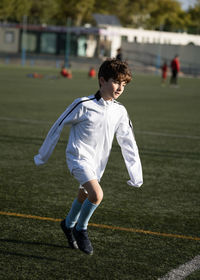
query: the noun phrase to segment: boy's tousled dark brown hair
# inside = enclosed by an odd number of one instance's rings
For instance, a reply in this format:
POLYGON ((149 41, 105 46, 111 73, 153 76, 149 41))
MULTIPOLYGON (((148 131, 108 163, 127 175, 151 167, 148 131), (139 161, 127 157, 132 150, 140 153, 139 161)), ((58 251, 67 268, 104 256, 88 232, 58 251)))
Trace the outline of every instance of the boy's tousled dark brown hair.
POLYGON ((99 68, 98 78, 100 77, 103 77, 106 81, 111 78, 115 81, 129 83, 132 79, 132 74, 125 61, 107 59, 99 68))

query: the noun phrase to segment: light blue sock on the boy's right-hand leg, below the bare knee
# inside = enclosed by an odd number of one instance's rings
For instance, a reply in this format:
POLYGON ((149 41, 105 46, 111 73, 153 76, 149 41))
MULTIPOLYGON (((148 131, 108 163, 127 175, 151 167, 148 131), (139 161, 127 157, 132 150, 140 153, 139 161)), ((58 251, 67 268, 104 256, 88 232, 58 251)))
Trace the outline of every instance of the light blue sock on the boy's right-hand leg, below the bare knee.
POLYGON ((89 219, 96 210, 98 204, 91 203, 88 198, 83 202, 81 213, 78 218, 78 223, 76 225, 77 230, 86 230, 88 226, 89 219))

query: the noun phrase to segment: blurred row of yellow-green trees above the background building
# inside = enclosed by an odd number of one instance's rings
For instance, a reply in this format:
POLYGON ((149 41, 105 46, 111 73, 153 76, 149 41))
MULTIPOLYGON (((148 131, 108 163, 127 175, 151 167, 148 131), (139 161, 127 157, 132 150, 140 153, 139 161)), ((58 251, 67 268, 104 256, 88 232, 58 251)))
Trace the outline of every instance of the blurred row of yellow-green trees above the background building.
POLYGON ((0 21, 79 26, 94 23, 92 14, 116 15, 127 27, 200 33, 200 0, 183 11, 178 0, 0 0, 0 21))

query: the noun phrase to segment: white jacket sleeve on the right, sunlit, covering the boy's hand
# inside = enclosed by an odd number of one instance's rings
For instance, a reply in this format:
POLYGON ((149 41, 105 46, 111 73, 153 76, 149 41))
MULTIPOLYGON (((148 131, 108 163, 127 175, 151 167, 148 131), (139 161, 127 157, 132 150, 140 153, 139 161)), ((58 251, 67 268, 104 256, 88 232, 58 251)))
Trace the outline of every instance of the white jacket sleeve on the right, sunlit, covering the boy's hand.
POLYGON ((140 187, 143 184, 142 165, 138 147, 133 134, 132 124, 127 112, 121 118, 116 131, 116 138, 121 147, 122 155, 130 176, 127 184, 133 187, 140 187))

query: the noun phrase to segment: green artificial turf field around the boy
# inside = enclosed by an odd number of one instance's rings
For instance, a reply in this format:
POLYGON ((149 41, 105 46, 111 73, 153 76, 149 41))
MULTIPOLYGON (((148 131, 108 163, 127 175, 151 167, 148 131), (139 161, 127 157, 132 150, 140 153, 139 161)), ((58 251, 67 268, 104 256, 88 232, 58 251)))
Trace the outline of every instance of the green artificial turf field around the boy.
MULTIPOLYGON (((200 249, 200 79, 180 78, 180 87, 170 88, 161 87, 159 76, 136 74, 126 87, 119 101, 133 122, 144 185, 126 184, 114 141, 101 181, 104 199, 90 220, 97 225, 89 226, 94 255, 87 256, 68 248, 59 225, 78 187, 65 163, 69 129, 46 165, 36 167, 33 156, 65 108, 95 93, 98 83, 86 72, 52 80, 53 69, 40 70, 43 79, 27 78, 32 71, 0 66, 0 279, 153 280, 194 259, 200 249)), ((200 271, 186 279, 200 279, 200 271)))

